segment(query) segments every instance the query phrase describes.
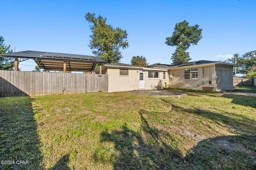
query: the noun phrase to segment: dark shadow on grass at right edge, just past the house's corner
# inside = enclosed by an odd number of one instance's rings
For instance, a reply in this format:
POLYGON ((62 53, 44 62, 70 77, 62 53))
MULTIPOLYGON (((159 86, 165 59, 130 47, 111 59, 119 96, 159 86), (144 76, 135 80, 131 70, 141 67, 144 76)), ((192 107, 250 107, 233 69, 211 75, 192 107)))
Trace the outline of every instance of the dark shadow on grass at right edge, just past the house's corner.
POLYGON ((256 97, 254 96, 223 94, 222 97, 232 99, 233 104, 239 104, 242 106, 250 106, 252 108, 256 108, 256 97))

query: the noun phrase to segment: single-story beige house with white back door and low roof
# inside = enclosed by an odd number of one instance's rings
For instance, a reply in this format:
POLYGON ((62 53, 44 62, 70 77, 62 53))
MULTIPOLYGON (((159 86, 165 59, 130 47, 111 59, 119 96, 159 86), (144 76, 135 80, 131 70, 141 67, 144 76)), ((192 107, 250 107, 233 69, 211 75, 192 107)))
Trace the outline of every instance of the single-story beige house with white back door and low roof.
MULTIPOLYGON (((234 90, 233 66, 238 65, 205 60, 147 67, 113 63, 102 66, 102 74, 108 74, 108 92, 165 87, 220 91, 234 90)), ((99 69, 95 72, 99 74, 99 69)))

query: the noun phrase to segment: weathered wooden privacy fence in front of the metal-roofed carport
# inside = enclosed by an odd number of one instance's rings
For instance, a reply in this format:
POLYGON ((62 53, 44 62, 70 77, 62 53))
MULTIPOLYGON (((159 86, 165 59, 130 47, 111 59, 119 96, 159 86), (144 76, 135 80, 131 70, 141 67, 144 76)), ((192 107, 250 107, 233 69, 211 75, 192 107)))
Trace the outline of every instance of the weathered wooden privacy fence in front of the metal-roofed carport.
POLYGON ((108 75, 0 70, 0 96, 108 92, 108 75))

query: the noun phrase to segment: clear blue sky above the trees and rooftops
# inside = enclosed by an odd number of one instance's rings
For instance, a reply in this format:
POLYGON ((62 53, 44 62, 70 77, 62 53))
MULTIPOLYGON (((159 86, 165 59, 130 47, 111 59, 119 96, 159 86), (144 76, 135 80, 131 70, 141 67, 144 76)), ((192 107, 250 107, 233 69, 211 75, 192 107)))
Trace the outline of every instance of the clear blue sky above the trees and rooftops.
MULTIPOLYGON (((175 47, 167 46, 165 38, 183 20, 203 29, 198 45, 188 49, 192 61, 225 60, 256 50, 255 0, 0 0, 0 4, 0 35, 16 51, 92 55, 87 12, 106 17, 108 24, 129 34, 130 47, 122 50, 121 63, 144 55, 150 64, 170 64, 175 47)), ((24 61, 20 68, 33 70, 35 65, 24 61)))

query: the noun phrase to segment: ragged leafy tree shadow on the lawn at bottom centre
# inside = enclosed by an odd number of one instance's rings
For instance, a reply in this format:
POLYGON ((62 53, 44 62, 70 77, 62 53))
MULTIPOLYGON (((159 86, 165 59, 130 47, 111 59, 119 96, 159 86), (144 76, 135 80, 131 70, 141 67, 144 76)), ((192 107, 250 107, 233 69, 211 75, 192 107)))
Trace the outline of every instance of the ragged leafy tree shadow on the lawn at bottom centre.
MULTIPOLYGON (((170 159, 178 153, 160 138, 160 132, 148 125, 143 115, 148 114, 140 110, 141 131, 135 132, 128 124, 122 126, 121 131, 104 131, 101 142, 114 143, 118 155, 114 158, 114 169, 166 169, 171 167, 170 159), (147 141, 144 141, 146 137, 147 141)), ((96 160, 102 157, 96 153, 96 160)))

